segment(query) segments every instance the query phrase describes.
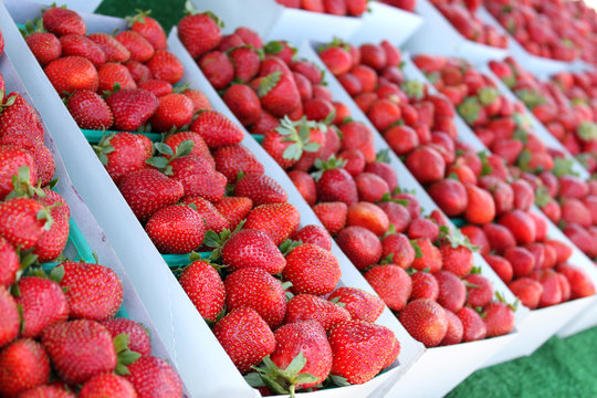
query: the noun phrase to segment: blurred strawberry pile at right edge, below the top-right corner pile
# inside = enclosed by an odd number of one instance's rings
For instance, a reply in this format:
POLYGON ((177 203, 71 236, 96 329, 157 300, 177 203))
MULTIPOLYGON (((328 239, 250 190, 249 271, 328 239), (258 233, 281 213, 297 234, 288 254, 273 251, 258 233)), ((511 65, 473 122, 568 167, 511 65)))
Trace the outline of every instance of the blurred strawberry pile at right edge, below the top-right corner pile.
POLYGON ((586 165, 589 172, 597 170, 597 103, 570 102, 566 97, 561 87, 572 88, 574 77, 570 73, 562 72, 555 76, 555 82, 543 82, 511 56, 502 62, 491 61, 489 66, 545 128, 586 165))

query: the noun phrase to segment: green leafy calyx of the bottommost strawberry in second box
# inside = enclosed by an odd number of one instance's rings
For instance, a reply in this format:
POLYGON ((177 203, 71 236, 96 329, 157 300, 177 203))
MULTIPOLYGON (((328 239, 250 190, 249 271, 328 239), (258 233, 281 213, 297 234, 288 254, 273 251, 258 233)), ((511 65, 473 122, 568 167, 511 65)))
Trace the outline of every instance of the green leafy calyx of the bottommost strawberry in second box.
POLYGON ((251 387, 269 387, 276 394, 290 394, 294 398, 296 385, 318 380, 313 375, 300 373, 306 365, 306 358, 302 350, 292 359, 285 369, 279 368, 269 355, 263 358, 263 365, 261 367, 253 366, 253 369, 256 371, 244 376, 244 380, 251 387))

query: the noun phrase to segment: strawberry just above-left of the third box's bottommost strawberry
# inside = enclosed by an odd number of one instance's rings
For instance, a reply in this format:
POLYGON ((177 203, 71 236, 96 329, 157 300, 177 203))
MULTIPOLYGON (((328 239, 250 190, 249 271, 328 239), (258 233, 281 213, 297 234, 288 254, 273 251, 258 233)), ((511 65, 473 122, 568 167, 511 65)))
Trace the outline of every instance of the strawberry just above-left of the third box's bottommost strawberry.
MULTIPOLYGON (((412 283, 410 276, 400 266, 377 265, 367 271, 364 276, 390 310, 400 311, 406 306, 412 291, 412 283)), ((349 308, 346 310, 349 311, 349 308)), ((355 318, 354 315, 353 318, 355 318)))

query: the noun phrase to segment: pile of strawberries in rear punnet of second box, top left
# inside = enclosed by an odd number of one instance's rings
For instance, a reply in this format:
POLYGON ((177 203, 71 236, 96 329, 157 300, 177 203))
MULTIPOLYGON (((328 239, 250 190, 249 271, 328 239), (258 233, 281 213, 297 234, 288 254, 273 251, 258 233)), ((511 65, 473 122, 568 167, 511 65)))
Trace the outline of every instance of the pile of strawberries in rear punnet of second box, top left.
POLYGON ((115 36, 86 35, 85 21, 57 7, 28 22, 25 41, 81 128, 169 132, 206 108, 198 91, 172 88, 184 66, 147 14, 128 18, 130 30, 115 36))

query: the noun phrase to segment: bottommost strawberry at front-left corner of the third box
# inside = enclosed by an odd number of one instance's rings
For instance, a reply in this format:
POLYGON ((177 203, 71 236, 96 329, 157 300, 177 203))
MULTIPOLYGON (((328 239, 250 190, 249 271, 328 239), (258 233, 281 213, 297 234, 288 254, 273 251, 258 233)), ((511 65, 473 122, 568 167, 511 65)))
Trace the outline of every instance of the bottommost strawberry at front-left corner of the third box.
POLYGON ((440 344, 448 332, 446 311, 431 300, 411 301, 400 312, 399 320, 407 332, 426 347, 440 344))

